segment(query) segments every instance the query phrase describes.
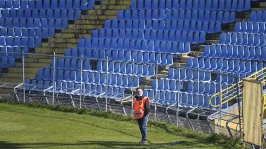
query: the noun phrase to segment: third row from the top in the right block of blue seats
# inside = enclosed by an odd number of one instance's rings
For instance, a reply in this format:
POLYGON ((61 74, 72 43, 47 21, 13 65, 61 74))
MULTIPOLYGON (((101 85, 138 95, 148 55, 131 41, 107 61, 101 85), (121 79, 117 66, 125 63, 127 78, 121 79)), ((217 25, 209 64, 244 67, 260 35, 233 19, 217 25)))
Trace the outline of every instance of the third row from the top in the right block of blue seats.
POLYGON ((266 34, 221 33, 219 44, 265 46, 266 34))

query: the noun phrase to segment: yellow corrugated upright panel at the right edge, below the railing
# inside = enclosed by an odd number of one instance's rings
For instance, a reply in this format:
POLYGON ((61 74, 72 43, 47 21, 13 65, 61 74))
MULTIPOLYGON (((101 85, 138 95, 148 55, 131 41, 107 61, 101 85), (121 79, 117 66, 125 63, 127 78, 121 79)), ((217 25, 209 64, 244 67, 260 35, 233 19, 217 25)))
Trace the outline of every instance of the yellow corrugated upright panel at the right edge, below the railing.
POLYGON ((254 79, 243 79, 243 98, 243 139, 245 142, 262 146, 262 83, 254 79))

